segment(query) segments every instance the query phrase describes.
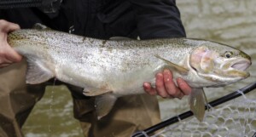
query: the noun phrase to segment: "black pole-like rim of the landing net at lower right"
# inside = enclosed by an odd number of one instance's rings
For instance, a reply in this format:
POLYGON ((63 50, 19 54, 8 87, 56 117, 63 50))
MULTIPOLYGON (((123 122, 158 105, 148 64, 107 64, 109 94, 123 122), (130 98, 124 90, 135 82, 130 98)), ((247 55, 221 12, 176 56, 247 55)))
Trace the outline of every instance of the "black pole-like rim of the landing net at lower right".
MULTIPOLYGON (((223 104, 224 102, 227 102, 229 100, 236 99, 237 97, 241 96, 242 94, 247 94, 250 91, 253 91, 253 89, 256 88, 256 82, 248 84, 246 87, 236 90, 235 92, 231 94, 227 94, 218 100, 213 100, 209 104, 206 105, 205 109, 207 109, 208 106, 218 106, 220 104, 223 104)), ((160 128, 165 128, 166 126, 169 126, 173 123, 177 123, 185 118, 193 116, 192 111, 186 111, 176 117, 172 117, 170 119, 167 119, 166 121, 163 121, 161 123, 155 124, 154 126, 150 128, 146 128, 143 131, 139 131, 135 134, 132 134, 131 137, 148 137, 148 134, 152 134, 155 131, 159 130, 160 128)), ((256 133, 255 133, 256 134, 256 133)), ((254 136, 253 136, 254 137, 254 136)))

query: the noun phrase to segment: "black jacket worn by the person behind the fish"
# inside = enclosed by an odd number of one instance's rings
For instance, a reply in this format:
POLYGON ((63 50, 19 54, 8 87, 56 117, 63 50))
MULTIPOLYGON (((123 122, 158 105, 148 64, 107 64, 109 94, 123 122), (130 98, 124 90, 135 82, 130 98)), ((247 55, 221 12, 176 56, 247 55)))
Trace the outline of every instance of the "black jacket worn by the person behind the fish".
POLYGON ((108 39, 109 37, 185 37, 174 0, 63 0, 58 13, 40 9, 0 10, 0 19, 30 28, 41 22, 52 29, 108 39))

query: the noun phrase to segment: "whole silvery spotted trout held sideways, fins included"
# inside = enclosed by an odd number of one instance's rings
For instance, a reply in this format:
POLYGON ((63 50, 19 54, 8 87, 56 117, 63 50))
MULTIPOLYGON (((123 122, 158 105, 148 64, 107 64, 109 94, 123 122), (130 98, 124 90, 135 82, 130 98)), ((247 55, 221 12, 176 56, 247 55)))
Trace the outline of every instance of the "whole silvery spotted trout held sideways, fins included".
POLYGON ((192 88, 189 106, 203 121, 207 99, 203 88, 223 87, 250 76, 248 54, 223 43, 195 38, 96 39, 51 30, 43 25, 9 33, 8 43, 26 57, 26 83, 50 78, 84 88, 96 97, 98 119, 115 101, 129 94, 144 94, 143 83, 154 85, 164 69, 192 88))

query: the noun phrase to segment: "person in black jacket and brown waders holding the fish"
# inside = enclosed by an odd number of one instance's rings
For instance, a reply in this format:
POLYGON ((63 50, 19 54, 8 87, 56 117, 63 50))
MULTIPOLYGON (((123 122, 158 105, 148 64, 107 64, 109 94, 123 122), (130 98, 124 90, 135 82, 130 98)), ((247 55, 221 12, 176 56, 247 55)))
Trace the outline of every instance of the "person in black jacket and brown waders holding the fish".
MULTIPOLYGON (((0 107, 7 108, 0 110, 0 119, 4 121, 0 122, 0 131, 3 132, 0 136, 23 136, 20 127, 35 103, 42 98, 45 86, 52 85, 50 82, 25 84, 26 61, 7 42, 9 32, 42 23, 54 30, 100 39, 186 37, 175 0, 109 0, 104 3, 63 0, 54 13, 37 8, 1 9, 0 19, 0 107)), ((170 70, 157 73, 155 87, 142 83, 145 93, 153 96, 122 97, 110 114, 101 120, 96 117, 95 98, 84 96, 81 88, 64 84, 73 95, 74 117, 81 122, 84 136, 130 136, 137 130, 160 122, 156 94, 171 99, 182 99, 190 94, 188 83, 182 78, 177 78, 176 82, 172 79, 170 70)))

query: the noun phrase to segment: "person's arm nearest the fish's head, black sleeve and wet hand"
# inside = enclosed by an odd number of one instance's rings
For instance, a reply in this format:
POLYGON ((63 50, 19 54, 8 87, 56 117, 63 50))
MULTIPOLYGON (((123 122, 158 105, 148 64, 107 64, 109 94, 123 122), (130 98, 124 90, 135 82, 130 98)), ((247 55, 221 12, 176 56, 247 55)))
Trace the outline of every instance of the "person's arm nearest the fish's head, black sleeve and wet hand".
MULTIPOLYGON (((186 37, 175 0, 131 0, 131 3, 137 14, 137 30, 141 39, 186 37)), ((177 85, 172 81, 172 71, 165 70, 155 77, 155 88, 150 83, 143 84, 148 94, 181 99, 191 92, 182 78, 177 78, 177 85)))

